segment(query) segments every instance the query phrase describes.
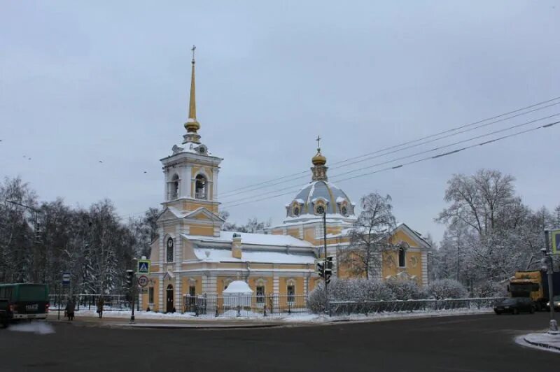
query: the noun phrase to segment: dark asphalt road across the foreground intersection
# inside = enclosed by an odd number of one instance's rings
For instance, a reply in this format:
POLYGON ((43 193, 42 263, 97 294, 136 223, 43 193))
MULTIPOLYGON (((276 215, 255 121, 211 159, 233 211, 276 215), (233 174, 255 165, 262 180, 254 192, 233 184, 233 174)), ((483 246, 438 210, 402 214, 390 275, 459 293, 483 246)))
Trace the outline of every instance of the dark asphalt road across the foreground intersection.
POLYGON ((470 315, 270 329, 0 329, 0 371, 545 371, 560 355, 516 345, 547 314, 470 315))

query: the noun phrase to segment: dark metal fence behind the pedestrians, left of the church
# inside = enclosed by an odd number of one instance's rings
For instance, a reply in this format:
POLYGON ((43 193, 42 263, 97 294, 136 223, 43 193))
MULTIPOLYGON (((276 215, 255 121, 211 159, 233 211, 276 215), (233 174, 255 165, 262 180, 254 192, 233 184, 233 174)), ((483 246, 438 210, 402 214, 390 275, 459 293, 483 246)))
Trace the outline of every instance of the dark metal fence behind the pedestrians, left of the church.
POLYGON ((103 310, 124 311, 130 309, 130 298, 124 294, 50 294, 50 310, 64 310, 70 297, 76 304, 76 311, 97 310, 99 298, 103 296, 103 310))

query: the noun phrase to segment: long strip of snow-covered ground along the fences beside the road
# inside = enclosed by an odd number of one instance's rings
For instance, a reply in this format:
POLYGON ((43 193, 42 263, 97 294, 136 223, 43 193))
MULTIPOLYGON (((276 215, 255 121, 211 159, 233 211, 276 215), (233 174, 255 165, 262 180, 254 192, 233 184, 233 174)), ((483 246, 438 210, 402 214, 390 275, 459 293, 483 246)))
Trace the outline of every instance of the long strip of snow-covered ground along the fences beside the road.
MULTIPOLYGON (((434 317, 434 316, 450 316, 450 315, 470 315, 470 314, 484 314, 491 313, 490 308, 482 309, 453 309, 453 310, 417 310, 417 311, 402 311, 402 312, 392 312, 392 313, 370 313, 365 314, 351 314, 351 315, 336 315, 329 317, 325 314, 314 314, 314 313, 292 313, 285 315, 272 315, 263 316, 259 313, 241 313, 242 316, 237 317, 237 310, 230 310, 224 315, 219 317, 214 317, 212 315, 200 315, 195 317, 193 313, 155 313, 153 311, 135 311, 134 317, 136 320, 197 320, 197 321, 238 321, 238 320, 251 320, 253 322, 311 322, 311 323, 321 323, 321 322, 342 322, 342 321, 370 321, 370 320, 386 320, 386 319, 398 319, 398 318, 410 318, 410 317, 434 317)), ((109 318, 120 318, 120 319, 130 319, 130 311, 104 311, 103 317, 109 318)), ((94 310, 80 310, 76 312, 76 318, 79 317, 97 317, 97 313, 94 310)))

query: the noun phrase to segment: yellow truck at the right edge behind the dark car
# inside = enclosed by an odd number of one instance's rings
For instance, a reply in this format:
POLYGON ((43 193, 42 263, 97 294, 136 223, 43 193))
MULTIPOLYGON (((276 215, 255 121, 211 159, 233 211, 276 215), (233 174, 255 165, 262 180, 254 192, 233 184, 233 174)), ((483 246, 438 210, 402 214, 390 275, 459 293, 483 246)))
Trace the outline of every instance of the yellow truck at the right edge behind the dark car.
MULTIPOLYGON (((560 291, 560 273, 554 273, 554 294, 560 291)), ((547 307, 548 278, 545 271, 517 271, 510 279, 508 291, 512 297, 531 297, 535 308, 540 311, 547 307)))

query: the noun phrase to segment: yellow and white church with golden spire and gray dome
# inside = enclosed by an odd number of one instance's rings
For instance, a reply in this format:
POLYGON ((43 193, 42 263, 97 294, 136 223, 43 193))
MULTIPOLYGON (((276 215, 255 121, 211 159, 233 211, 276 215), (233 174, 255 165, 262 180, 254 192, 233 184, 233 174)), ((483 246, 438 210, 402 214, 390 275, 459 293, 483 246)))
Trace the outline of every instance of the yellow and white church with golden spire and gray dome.
MULTIPOLYGON (((262 234, 222 231, 218 213, 218 173, 222 158, 201 141, 196 115, 195 59, 191 67, 188 119, 181 145, 161 159, 165 179, 158 239, 151 245, 148 291, 140 306, 159 312, 185 310, 186 296, 221 295, 230 282, 243 280, 253 294, 307 295, 322 280, 315 262, 324 256, 323 214, 327 250, 334 257, 333 275, 351 276, 337 257, 349 247, 356 220, 355 204, 328 182, 327 159, 321 148, 311 159, 311 182, 286 205, 283 223, 262 234), (339 266, 339 267, 338 267, 339 266)), ((400 224, 393 242, 405 247, 384 253, 379 279, 427 283, 426 250, 421 236, 400 224)))

